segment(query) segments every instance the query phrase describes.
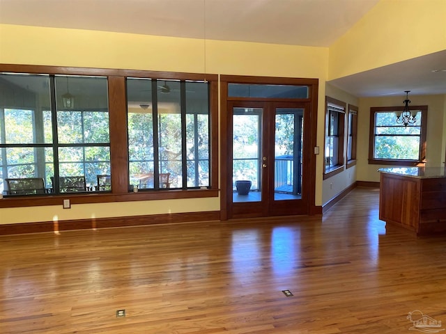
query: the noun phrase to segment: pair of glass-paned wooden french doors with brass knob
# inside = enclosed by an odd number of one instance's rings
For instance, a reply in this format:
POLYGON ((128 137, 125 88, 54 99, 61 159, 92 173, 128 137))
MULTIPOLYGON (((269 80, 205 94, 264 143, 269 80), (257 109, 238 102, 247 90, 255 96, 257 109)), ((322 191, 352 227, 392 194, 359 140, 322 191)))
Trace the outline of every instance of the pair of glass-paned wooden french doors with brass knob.
POLYGON ((229 218, 309 213, 308 113, 307 102, 228 101, 229 218))

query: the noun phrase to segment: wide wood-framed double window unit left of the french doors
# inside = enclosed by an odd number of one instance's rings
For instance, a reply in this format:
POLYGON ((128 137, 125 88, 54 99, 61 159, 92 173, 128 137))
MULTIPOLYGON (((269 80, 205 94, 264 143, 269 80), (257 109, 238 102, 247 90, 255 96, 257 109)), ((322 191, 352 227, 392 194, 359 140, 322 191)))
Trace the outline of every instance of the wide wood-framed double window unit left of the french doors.
POLYGON ((218 196, 217 79, 0 64, 0 206, 218 196))

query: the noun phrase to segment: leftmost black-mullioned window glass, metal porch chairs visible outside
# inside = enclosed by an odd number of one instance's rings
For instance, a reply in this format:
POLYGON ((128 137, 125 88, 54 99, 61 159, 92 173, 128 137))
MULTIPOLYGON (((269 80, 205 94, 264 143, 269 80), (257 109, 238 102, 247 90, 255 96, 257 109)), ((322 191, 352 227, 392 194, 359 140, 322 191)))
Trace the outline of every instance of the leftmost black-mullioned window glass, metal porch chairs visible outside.
POLYGON ((0 191, 95 191, 110 173, 107 78, 0 74, 0 191))

